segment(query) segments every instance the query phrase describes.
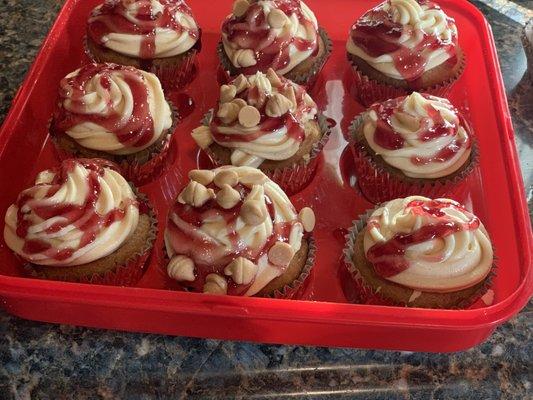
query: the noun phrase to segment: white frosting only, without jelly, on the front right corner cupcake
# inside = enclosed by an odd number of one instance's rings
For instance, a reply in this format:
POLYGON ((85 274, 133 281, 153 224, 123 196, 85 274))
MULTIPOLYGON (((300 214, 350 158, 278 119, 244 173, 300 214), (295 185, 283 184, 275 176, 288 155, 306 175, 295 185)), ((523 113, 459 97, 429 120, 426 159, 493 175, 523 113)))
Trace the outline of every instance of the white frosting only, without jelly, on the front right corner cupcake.
MULTIPOLYGON (((428 205, 433 200, 422 196, 389 201, 375 210, 367 222, 364 250, 389 241, 397 234, 409 234, 421 227, 441 222, 468 224, 475 218, 459 203, 437 199, 443 216, 422 212, 413 201, 428 205)), ((431 207, 431 205, 429 205, 431 207)), ((413 244, 404 255, 408 268, 385 279, 403 286, 429 292, 454 292, 481 282, 493 264, 490 238, 483 224, 461 229, 445 237, 413 244)))

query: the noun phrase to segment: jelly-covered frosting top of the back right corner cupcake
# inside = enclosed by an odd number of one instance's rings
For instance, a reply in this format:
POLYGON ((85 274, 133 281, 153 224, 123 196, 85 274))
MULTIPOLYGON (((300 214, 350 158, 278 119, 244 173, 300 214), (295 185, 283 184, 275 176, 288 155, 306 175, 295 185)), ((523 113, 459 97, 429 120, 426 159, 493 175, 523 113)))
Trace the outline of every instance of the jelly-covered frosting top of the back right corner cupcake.
POLYGON ((426 0, 387 0, 350 31, 347 50, 389 78, 414 81, 439 65, 457 63, 455 21, 426 0))

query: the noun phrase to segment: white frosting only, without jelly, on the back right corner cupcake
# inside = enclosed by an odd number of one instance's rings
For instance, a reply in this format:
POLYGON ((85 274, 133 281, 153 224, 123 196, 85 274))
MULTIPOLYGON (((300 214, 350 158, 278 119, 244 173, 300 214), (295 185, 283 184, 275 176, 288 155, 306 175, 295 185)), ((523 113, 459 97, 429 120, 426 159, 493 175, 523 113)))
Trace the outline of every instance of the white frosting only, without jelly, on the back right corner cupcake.
MULTIPOLYGON (((457 45, 457 27, 454 20, 435 3, 428 1, 419 4, 416 0, 389 0, 369 11, 362 17, 362 20, 366 23, 374 19, 380 21, 382 16, 377 11, 387 13, 390 21, 403 26, 401 36, 392 38, 391 42, 424 59, 424 71, 429 71, 454 56, 454 53, 448 51, 447 47, 457 45), (419 48, 426 35, 432 36, 439 45, 419 48)), ((357 29, 356 27, 357 23, 354 28, 357 29)), ((384 75, 393 79, 405 79, 406 72, 398 70, 395 60, 396 53, 402 50, 378 56, 371 55, 354 41, 353 35, 350 35, 346 49, 350 54, 362 58, 384 75)))

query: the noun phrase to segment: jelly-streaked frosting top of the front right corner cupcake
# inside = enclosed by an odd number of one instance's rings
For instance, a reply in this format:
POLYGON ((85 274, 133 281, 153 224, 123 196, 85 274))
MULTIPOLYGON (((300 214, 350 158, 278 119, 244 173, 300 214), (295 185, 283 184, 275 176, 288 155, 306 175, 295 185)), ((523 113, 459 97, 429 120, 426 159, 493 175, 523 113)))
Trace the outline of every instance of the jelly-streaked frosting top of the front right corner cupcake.
POLYGON ((489 235, 475 215, 454 200, 421 196, 375 210, 364 232, 364 251, 379 276, 430 292, 474 286, 493 264, 489 235))

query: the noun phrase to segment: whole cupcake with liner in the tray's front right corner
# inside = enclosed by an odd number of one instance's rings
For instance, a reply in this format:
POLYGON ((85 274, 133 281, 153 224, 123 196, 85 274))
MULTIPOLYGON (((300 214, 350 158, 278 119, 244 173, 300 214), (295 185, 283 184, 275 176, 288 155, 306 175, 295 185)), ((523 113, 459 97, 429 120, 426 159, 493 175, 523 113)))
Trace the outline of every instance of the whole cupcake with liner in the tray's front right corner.
POLYGON ((346 263, 362 302, 464 308, 488 289, 494 269, 489 235, 454 200, 412 196, 357 221, 346 263))

